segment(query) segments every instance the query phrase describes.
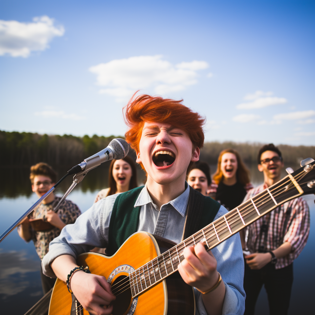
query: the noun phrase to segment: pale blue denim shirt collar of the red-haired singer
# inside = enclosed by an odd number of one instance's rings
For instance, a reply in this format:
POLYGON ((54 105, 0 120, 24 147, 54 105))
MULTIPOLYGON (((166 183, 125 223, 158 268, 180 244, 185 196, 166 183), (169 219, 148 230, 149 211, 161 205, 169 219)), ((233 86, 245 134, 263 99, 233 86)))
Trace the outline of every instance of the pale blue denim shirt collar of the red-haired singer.
MULTIPOLYGON (((186 213, 186 208, 187 208, 187 204, 188 204, 188 199, 189 199, 189 185, 188 183, 185 181, 185 191, 179 195, 177 198, 175 198, 174 200, 169 201, 168 203, 165 203, 162 205, 165 206, 167 204, 171 204, 176 210, 177 212, 180 213, 181 216, 184 216, 186 213)), ((158 210, 156 204, 153 203, 152 198, 147 190, 146 185, 143 187, 143 189, 141 190, 134 207, 139 207, 139 206, 143 206, 145 204, 148 203, 152 203, 152 206, 158 210)))

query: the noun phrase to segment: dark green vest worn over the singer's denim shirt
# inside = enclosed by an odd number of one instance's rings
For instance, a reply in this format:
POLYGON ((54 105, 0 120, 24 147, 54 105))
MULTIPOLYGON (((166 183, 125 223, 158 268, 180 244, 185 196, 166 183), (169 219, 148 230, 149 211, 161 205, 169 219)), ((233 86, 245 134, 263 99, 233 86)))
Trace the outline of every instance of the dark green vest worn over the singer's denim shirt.
MULTIPOLYGON (((137 232, 141 206, 134 207, 134 205, 142 189, 143 186, 137 187, 117 196, 109 223, 108 246, 106 249, 107 255, 114 255, 124 241, 129 238, 130 235, 137 232)), ((191 233, 190 235, 210 224, 221 207, 220 203, 217 201, 210 197, 205 197, 190 188, 189 198, 191 199, 196 196, 198 196, 199 201, 201 200, 203 209, 199 210, 200 221, 198 220, 197 227, 195 226, 189 231, 191 233)), ((188 202, 188 205, 189 204, 190 202, 188 202)), ((193 211, 196 211, 196 209, 193 211)), ((187 226, 189 226, 189 222, 186 222, 186 228, 187 226)), ((186 237, 190 235, 187 235, 186 237)))

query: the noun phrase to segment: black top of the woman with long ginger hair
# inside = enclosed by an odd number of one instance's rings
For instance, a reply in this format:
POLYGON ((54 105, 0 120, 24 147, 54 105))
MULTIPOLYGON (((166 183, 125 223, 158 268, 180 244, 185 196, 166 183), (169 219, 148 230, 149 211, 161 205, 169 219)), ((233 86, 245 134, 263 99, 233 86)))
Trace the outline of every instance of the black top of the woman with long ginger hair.
POLYGON ((246 190, 239 182, 232 186, 227 186, 221 181, 215 194, 215 200, 220 202, 227 211, 230 211, 240 205, 245 196, 246 190))

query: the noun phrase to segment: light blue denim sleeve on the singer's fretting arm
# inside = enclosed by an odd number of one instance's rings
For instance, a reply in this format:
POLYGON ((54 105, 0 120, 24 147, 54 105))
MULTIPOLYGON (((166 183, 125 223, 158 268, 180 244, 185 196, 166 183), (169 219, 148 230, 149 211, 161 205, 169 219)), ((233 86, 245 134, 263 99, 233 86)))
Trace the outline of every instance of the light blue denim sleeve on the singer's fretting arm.
MULTIPOLYGON (((215 220, 226 213, 221 206, 215 220)), ((217 261, 217 271, 220 272, 225 284, 223 315, 243 315, 245 311, 244 259, 239 233, 232 235, 215 248, 211 249, 217 261)), ((195 288, 196 315, 207 315, 202 301, 202 294, 195 288)))

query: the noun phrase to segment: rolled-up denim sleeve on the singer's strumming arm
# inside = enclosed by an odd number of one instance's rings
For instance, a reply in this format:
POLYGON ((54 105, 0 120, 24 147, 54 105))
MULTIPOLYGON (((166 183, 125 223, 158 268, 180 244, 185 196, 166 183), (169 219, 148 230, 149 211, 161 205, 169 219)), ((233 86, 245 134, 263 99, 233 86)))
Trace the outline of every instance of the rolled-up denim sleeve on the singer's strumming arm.
POLYGON ((108 231, 116 196, 109 196, 93 204, 74 224, 66 225, 60 235, 49 243, 49 251, 42 261, 46 276, 56 278, 50 264, 60 255, 72 255, 76 258, 94 247, 106 248, 108 233, 104 231, 108 231))

